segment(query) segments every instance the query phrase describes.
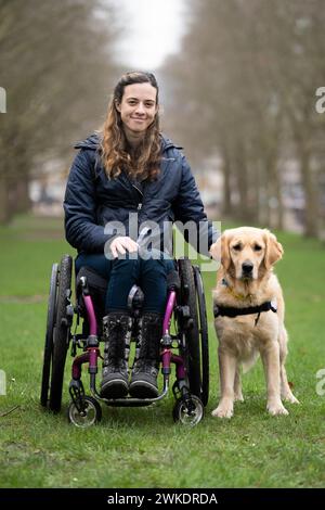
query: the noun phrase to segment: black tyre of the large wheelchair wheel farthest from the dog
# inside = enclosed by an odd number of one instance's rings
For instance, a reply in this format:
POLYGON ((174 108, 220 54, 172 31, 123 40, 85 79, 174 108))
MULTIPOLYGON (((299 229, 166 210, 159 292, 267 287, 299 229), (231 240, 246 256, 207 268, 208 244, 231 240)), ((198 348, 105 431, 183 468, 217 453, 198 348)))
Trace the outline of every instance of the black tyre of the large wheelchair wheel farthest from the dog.
POLYGON ((54 412, 58 412, 61 409, 64 366, 70 336, 67 305, 69 304, 69 297, 72 294, 72 257, 69 255, 64 255, 58 268, 58 289, 53 335, 52 377, 49 403, 49 408, 54 412))

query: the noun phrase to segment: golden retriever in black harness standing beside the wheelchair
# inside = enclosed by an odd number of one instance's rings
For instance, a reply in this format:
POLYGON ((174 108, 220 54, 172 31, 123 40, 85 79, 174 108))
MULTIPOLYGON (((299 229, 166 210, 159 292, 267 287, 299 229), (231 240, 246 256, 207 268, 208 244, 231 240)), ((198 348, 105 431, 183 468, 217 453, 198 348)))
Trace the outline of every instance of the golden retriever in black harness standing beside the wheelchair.
POLYGON ((288 415, 282 398, 292 404, 298 400, 285 370, 284 298, 273 273, 283 247, 266 229, 240 227, 225 230, 210 254, 221 260, 213 290, 221 399, 212 416, 233 416, 234 401, 244 400, 240 365, 247 371, 259 354, 266 381, 266 409, 272 416, 288 415))

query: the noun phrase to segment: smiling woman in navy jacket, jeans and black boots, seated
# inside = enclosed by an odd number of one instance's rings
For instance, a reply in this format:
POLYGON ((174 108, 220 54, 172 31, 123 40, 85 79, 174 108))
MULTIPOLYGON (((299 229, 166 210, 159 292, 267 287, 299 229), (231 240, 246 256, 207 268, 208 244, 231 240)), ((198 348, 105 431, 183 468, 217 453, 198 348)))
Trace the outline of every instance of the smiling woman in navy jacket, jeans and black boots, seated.
POLYGON ((153 74, 121 76, 102 132, 76 145, 80 151, 66 188, 66 239, 78 250, 76 270, 92 267, 108 279, 101 384, 106 398, 158 395, 166 277, 172 265, 160 242, 166 225, 203 222, 208 247, 217 240, 185 157, 160 133, 158 104, 153 74), (156 240, 159 233, 159 250, 142 251, 140 239, 153 231, 156 240), (129 383, 125 348, 132 324, 128 296, 134 283, 144 292, 144 306, 129 383))

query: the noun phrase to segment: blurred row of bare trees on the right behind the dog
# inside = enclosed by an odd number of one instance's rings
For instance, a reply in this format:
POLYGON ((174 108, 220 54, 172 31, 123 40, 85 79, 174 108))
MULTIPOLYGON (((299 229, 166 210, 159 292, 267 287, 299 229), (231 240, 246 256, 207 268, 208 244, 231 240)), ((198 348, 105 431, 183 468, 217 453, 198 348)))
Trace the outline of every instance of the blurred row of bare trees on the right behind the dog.
MULTIPOLYGON (((297 161, 304 232, 318 233, 325 84, 322 0, 192 0, 182 52, 164 72, 169 128, 196 163, 223 160, 224 214, 282 228, 286 160, 297 161)), ((322 181, 323 179, 323 181, 322 181)), ((323 184, 324 187, 324 184, 323 184)))

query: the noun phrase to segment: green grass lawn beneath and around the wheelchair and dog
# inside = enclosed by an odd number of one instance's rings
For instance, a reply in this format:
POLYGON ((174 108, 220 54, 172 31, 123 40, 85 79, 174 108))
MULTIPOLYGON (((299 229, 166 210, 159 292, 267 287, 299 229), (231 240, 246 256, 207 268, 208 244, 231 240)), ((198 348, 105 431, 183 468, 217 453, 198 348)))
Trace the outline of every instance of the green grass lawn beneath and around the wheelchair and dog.
MULTIPOLYGON (((325 367, 325 251, 314 240, 278 233, 285 247, 276 272, 286 298, 288 378, 300 406, 289 416, 265 411, 260 361, 244 377, 246 401, 230 421, 211 417, 218 400, 217 341, 206 272, 211 358, 210 400, 194 429, 173 423, 172 396, 147 408, 108 408, 89 430, 69 425, 70 358, 63 411, 39 406, 51 265, 74 253, 61 221, 18 218, 0 229, 0 487, 323 487, 325 396, 315 391, 325 367), (12 412, 6 411, 18 406, 12 412)), ((88 385, 87 372, 83 382, 88 385)))

